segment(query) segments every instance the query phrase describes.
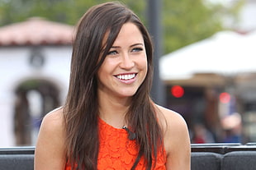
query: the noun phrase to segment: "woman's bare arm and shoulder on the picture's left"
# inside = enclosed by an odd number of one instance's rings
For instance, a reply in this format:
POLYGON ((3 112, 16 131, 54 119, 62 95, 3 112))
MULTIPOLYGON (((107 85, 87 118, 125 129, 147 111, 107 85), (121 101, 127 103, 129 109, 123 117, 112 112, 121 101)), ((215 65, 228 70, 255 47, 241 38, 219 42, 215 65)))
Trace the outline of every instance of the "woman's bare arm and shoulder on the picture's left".
POLYGON ((66 157, 62 112, 60 108, 43 119, 36 143, 35 170, 64 170, 66 157))

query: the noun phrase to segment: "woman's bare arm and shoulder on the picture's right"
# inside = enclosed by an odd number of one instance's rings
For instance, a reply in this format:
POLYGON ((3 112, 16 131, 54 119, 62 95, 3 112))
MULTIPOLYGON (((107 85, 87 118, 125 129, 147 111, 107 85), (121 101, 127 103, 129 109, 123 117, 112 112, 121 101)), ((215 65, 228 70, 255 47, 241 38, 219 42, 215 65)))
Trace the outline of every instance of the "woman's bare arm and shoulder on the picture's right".
POLYGON ((167 153, 167 170, 190 170, 191 146, 187 124, 183 117, 166 108, 164 113, 165 126, 164 147, 167 153))

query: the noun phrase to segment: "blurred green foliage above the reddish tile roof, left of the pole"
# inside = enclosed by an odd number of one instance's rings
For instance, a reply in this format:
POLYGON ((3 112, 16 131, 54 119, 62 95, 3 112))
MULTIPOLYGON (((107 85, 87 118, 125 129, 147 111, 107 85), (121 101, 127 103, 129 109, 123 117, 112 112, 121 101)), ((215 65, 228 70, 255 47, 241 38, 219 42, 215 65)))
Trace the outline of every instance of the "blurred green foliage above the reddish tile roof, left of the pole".
MULTIPOLYGON (((111 0, 0 0, 0 26, 13 22, 26 21, 40 16, 50 21, 74 25, 89 7, 111 0), (1 5, 2 4, 2 5, 1 5)), ((121 0, 138 15, 144 11, 145 1, 136 3, 121 0)))

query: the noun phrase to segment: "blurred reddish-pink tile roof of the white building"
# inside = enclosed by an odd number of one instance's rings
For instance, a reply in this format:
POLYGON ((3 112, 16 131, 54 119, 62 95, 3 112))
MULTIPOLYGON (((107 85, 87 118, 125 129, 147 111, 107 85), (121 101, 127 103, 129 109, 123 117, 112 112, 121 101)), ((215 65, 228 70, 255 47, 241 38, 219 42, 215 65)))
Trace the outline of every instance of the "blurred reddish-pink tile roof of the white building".
POLYGON ((0 27, 0 46, 71 44, 74 27, 34 17, 0 27))

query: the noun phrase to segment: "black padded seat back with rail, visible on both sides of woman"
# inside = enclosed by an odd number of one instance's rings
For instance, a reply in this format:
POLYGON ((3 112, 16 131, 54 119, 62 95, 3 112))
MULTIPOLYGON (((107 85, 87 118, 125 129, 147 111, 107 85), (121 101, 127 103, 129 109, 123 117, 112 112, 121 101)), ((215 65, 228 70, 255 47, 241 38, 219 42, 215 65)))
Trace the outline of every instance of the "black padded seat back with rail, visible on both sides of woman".
MULTIPOLYGON (((256 143, 192 144, 191 150, 192 170, 256 169, 256 143)), ((33 170, 34 154, 34 146, 0 148, 0 170, 33 170)))

